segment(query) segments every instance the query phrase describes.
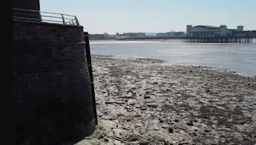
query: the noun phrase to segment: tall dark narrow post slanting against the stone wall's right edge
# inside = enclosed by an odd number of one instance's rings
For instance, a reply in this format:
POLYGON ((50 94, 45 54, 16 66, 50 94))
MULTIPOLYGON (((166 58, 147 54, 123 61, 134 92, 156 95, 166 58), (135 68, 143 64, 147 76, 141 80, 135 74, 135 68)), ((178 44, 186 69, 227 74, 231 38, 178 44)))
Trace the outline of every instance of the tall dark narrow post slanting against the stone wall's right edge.
POLYGON ((95 117, 95 124, 98 125, 96 100, 95 100, 93 75, 92 75, 92 61, 91 61, 91 53, 90 53, 90 44, 89 44, 88 32, 84 32, 84 42, 85 42, 86 61, 87 61, 88 70, 89 70, 90 79, 91 79, 93 113, 94 113, 94 117, 95 117))

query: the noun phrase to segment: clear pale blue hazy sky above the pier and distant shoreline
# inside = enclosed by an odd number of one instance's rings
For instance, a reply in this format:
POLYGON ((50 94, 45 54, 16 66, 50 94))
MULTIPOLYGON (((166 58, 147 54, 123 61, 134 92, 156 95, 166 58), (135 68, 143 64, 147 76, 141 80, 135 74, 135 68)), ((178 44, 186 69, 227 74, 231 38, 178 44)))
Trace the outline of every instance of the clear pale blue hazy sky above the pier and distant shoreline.
POLYGON ((188 24, 256 30, 256 0, 40 0, 40 10, 76 15, 90 34, 186 31, 188 24))

